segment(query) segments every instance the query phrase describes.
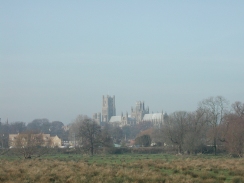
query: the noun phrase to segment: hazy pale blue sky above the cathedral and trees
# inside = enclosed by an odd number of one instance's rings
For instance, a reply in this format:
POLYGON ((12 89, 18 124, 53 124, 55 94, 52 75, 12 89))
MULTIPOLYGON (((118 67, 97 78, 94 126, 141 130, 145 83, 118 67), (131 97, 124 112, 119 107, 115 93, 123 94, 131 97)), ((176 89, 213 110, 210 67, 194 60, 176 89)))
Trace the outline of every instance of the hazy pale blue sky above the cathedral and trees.
POLYGON ((0 118, 244 102, 244 1, 0 0, 0 118))

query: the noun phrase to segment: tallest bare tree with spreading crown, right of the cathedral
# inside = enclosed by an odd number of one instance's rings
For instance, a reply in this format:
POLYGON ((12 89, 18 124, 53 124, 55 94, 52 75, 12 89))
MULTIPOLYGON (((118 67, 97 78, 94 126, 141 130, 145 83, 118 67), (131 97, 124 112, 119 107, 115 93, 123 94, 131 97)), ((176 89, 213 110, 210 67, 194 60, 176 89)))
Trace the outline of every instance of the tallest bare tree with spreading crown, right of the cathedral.
POLYGON ((217 140, 219 137, 218 125, 223 122, 227 103, 227 100, 221 96, 210 97, 199 103, 199 109, 204 111, 206 122, 211 127, 209 137, 215 155, 217 154, 217 140))

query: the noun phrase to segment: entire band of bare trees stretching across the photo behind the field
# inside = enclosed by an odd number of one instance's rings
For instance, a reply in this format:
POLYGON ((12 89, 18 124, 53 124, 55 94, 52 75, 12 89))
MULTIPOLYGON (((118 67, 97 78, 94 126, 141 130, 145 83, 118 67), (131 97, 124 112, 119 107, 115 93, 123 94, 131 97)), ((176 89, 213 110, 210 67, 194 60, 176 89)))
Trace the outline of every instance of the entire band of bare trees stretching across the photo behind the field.
POLYGON ((8 147, 8 134, 36 131, 72 141, 76 148, 82 147, 82 152, 91 154, 114 144, 126 147, 129 140, 134 140, 137 147, 168 147, 177 149, 178 153, 227 152, 242 157, 244 152, 244 104, 229 105, 221 96, 202 100, 195 111, 165 115, 160 128, 150 122, 123 127, 110 123, 100 126, 84 115, 79 115, 68 128, 64 128, 62 122, 47 119, 35 119, 28 124, 4 123, 0 127, 2 147, 8 147))

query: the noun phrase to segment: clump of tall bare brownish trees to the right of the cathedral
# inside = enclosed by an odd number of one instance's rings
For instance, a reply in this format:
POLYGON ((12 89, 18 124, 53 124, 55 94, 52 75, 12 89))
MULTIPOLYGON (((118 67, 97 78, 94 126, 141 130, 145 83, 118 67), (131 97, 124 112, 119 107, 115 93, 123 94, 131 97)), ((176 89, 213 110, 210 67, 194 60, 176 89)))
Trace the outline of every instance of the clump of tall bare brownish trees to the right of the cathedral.
POLYGON ((228 107, 223 97, 199 103, 196 111, 177 111, 166 117, 161 129, 151 134, 154 142, 172 145, 178 153, 228 152, 242 157, 244 151, 244 104, 228 107))

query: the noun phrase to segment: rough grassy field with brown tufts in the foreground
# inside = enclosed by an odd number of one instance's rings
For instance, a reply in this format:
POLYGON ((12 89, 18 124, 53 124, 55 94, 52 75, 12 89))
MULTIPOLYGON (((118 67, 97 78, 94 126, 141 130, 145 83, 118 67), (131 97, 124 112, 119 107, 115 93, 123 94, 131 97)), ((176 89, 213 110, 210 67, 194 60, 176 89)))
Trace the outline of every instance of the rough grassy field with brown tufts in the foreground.
POLYGON ((244 183, 244 159, 169 154, 1 157, 0 182, 244 183))

